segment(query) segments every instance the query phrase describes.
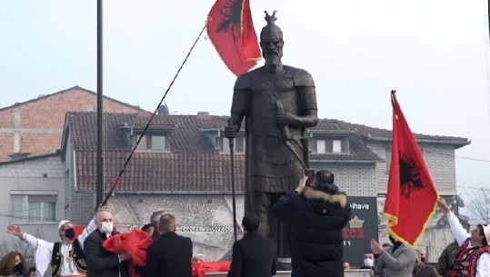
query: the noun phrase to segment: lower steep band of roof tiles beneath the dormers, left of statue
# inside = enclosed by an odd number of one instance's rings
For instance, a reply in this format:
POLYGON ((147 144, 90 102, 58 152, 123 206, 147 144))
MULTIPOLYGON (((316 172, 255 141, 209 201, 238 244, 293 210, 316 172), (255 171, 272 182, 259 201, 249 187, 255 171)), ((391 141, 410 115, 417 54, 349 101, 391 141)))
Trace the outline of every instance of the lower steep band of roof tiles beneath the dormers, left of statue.
MULTIPOLYGON (((114 182, 129 152, 105 153, 106 186, 114 182)), ((76 153, 76 185, 94 190, 96 152, 76 153)), ((235 155, 236 192, 244 191, 245 155, 235 155)), ((230 155, 217 153, 135 153, 117 191, 202 192, 231 191, 230 155)))

